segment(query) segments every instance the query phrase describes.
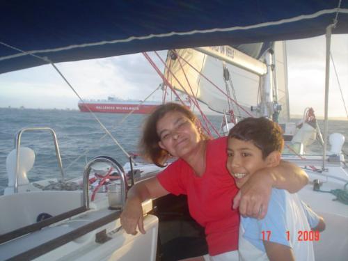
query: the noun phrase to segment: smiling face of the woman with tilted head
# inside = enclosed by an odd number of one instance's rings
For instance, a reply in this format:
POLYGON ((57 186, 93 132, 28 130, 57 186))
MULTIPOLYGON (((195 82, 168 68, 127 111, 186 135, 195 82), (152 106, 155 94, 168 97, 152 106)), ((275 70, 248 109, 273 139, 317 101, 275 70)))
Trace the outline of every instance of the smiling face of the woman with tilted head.
POLYGON ((185 157, 196 148, 200 141, 196 122, 192 122, 184 113, 170 111, 157 122, 159 147, 174 157, 185 157))

